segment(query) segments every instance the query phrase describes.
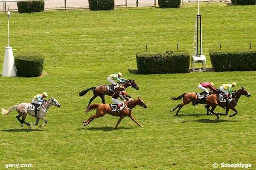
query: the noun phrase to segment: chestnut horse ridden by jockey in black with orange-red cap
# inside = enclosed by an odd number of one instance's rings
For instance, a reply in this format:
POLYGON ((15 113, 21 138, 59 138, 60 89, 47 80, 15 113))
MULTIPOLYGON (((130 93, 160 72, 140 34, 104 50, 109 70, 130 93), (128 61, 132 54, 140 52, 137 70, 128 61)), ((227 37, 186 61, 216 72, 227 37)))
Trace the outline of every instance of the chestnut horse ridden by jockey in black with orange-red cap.
POLYGON ((140 125, 135 119, 134 116, 131 114, 131 109, 133 109, 135 106, 141 106, 143 108, 147 108, 148 106, 145 104, 145 102, 143 102, 142 99, 140 99, 140 97, 138 97, 138 99, 136 100, 131 100, 128 102, 125 102, 125 108, 122 109, 122 111, 117 112, 117 111, 112 111, 111 109, 111 104, 92 104, 90 105, 89 108, 86 109, 86 113, 92 111, 93 109, 96 109, 96 114, 90 116, 86 121, 82 122, 84 123, 84 126, 88 125, 93 119, 97 118, 97 117, 103 117, 105 114, 110 114, 112 116, 117 116, 120 117, 115 129, 117 129, 118 124, 121 122, 121 120, 126 117, 129 116, 138 126, 143 127, 142 125, 140 125))

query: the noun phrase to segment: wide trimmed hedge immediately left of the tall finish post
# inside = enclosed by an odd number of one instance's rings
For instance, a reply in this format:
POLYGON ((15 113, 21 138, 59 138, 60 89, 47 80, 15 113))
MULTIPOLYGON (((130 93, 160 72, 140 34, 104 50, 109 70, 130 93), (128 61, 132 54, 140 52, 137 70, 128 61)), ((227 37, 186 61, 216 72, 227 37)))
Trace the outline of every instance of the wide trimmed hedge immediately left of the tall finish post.
POLYGON ((136 54, 139 74, 187 73, 189 53, 184 51, 142 52, 136 54))

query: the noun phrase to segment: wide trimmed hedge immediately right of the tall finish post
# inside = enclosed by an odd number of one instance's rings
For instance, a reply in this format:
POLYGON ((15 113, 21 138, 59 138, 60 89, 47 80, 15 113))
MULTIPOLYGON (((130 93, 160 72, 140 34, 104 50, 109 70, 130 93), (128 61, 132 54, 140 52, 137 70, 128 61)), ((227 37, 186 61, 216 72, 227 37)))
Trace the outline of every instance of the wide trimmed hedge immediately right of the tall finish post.
POLYGON ((255 71, 256 51, 209 51, 214 71, 255 71))

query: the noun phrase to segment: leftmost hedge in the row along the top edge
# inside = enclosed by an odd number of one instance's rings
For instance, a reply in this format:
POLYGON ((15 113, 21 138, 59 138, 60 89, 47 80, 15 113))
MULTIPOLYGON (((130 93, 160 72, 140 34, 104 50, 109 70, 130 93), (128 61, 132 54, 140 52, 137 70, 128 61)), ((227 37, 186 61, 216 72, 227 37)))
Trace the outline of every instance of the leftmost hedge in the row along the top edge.
POLYGON ((19 13, 44 11, 44 0, 17 2, 19 13))

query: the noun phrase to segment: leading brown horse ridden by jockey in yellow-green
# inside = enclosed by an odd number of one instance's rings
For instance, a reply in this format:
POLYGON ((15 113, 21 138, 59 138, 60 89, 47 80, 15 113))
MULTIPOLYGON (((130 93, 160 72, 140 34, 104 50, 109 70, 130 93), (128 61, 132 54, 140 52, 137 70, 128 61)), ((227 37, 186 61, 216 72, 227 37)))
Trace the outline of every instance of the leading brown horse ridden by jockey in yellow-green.
POLYGON ((245 88, 243 88, 243 87, 241 89, 239 89, 238 91, 235 91, 233 93, 233 96, 232 96, 232 101, 227 106, 225 114, 224 113, 214 113, 213 112, 214 109, 217 107, 217 105, 220 106, 221 108, 224 108, 226 106, 226 102, 219 102, 219 94, 211 94, 211 95, 207 96, 206 101, 205 101, 207 106, 205 106, 205 108, 207 108, 207 111, 215 114, 218 119, 219 119, 218 115, 225 115, 226 116, 230 109, 235 111, 235 113, 233 115, 230 115, 230 117, 236 116, 238 111, 235 109, 235 107, 238 103, 238 100, 240 99, 240 97, 242 95, 247 96, 248 98, 251 96, 251 94, 248 93, 248 91, 246 91, 245 88), (209 110, 210 106, 212 107, 211 110, 209 110))

